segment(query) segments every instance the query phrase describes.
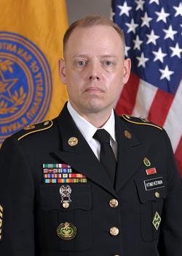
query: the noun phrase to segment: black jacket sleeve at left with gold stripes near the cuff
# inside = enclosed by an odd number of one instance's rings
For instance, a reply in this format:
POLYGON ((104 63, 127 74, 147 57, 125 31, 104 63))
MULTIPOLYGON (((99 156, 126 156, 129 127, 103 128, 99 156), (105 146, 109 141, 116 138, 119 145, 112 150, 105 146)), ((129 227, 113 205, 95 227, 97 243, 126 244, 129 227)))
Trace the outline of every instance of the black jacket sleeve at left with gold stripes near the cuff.
POLYGON ((15 138, 0 151, 0 255, 34 256, 33 177, 15 138))

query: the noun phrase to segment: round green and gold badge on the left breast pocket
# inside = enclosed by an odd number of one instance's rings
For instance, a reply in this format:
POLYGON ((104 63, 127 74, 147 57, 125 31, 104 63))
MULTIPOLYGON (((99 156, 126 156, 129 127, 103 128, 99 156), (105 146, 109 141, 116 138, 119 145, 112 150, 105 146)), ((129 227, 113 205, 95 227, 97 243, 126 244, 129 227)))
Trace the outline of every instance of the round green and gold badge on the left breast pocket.
POLYGON ((71 240, 75 238, 77 233, 76 227, 69 222, 61 223, 57 227, 57 234, 63 240, 71 240))

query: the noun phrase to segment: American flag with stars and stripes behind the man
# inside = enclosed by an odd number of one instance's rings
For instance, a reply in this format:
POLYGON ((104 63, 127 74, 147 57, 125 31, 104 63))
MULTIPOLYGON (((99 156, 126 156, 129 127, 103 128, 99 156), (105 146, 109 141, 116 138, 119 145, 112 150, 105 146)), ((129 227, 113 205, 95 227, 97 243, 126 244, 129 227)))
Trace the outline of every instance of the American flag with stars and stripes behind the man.
POLYGON ((112 18, 124 31, 125 55, 132 60, 116 111, 164 127, 182 176, 182 2, 113 0, 112 18))

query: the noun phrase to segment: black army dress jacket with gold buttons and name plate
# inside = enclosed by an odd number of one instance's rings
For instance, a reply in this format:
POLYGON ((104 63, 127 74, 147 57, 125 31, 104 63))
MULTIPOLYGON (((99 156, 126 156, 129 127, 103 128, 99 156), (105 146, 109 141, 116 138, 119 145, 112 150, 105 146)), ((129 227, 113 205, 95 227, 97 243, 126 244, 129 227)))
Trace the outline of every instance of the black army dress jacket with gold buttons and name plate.
POLYGON ((5 140, 0 154, 1 256, 182 255, 181 179, 167 134, 139 118, 115 118, 114 187, 66 106, 58 118, 5 140), (70 146, 73 137, 78 143, 70 146), (87 183, 68 184, 68 208, 60 200, 63 184, 44 184, 44 163, 68 164, 86 176, 87 183), (111 207, 111 199, 118 206, 111 207), (71 240, 57 234, 65 222, 76 227, 71 240), (119 230, 116 236, 111 227, 119 230))

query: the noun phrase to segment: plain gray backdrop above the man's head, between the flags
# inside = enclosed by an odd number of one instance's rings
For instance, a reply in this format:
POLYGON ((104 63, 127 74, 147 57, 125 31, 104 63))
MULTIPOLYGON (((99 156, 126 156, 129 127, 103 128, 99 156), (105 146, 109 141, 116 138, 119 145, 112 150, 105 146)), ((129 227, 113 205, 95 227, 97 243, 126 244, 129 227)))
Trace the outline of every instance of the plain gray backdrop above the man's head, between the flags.
POLYGON ((69 24, 87 15, 111 14, 111 0, 66 0, 66 7, 69 24))

